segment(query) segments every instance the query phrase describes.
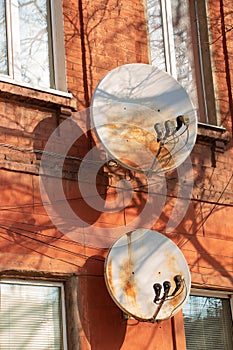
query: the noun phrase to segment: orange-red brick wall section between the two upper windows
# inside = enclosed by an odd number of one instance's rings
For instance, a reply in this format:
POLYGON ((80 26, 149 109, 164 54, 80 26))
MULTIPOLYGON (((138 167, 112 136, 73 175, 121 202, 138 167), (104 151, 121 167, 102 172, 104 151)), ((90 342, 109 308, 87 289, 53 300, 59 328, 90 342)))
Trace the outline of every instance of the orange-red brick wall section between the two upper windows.
POLYGON ((68 86, 80 107, 88 107, 94 88, 109 70, 148 62, 143 2, 63 3, 68 86))

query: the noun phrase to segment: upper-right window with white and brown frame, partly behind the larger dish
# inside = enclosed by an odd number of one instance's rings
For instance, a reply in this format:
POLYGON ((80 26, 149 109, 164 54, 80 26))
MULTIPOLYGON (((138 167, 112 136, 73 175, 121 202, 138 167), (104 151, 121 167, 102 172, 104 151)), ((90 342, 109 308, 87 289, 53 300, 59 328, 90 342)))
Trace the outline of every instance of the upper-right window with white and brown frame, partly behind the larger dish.
POLYGON ((189 93, 199 121, 217 124, 205 0, 147 0, 151 63, 189 93))

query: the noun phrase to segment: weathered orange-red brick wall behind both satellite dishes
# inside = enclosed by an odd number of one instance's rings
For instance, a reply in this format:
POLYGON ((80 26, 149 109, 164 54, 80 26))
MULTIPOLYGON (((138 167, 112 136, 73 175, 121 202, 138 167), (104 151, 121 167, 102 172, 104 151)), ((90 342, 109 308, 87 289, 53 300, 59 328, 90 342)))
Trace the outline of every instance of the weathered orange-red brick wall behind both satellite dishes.
MULTIPOLYGON (((159 220, 142 224, 166 234, 181 248, 193 286, 232 290, 232 6, 230 0, 224 1, 223 7, 221 4, 210 1, 219 116, 226 131, 199 128, 191 154, 194 188, 191 200, 183 198, 187 212, 178 227, 166 231, 177 201, 176 172, 167 175, 168 192, 159 220)), ((63 7, 67 82, 73 98, 0 83, 0 273, 66 281, 69 300, 73 300, 67 301, 72 350, 78 349, 79 341, 81 349, 185 349, 181 313, 155 325, 123 319, 103 279, 109 247, 95 248, 63 235, 49 218, 47 204, 42 203, 40 159, 51 133, 67 116, 90 105, 94 88, 109 70, 126 63, 148 63, 143 2, 64 0, 63 7)), ((88 118, 80 120, 79 127, 85 132, 89 123, 88 118)), ((58 137, 62 143, 63 135, 58 137)), ((87 134, 69 151, 68 155, 77 159, 66 160, 64 165, 66 199, 90 225, 117 228, 129 224, 140 218, 147 200, 146 186, 145 191, 134 193, 125 209, 111 214, 94 210, 80 197, 78 158, 93 144, 87 134)), ((51 159, 51 166, 56 166, 56 159, 51 159)), ((103 167, 98 179, 101 196, 115 198, 116 183, 125 178, 144 185, 140 175, 103 167)), ((163 194, 157 188, 152 194, 155 207, 159 196, 163 194)))

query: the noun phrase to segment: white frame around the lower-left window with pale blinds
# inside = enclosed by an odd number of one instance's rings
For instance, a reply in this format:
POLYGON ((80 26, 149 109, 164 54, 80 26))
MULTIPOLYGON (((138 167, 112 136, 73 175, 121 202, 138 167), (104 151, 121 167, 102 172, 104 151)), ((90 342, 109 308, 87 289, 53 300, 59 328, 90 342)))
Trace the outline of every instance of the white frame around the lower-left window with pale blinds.
POLYGON ((38 281, 38 280, 21 280, 21 279, 0 279, 0 284, 21 284, 28 286, 46 286, 58 287, 61 291, 61 322, 62 322, 62 340, 63 350, 68 350, 67 331, 66 331, 66 309, 65 309, 65 290, 61 282, 38 281))

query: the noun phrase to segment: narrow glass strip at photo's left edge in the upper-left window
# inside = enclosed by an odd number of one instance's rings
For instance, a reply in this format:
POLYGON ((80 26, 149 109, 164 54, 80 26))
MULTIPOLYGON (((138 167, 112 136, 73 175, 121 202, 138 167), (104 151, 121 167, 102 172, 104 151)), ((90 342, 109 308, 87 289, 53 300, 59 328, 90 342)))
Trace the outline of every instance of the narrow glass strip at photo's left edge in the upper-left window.
POLYGON ((0 0, 0 73, 8 74, 7 41, 6 41, 6 10, 5 1, 0 0))

